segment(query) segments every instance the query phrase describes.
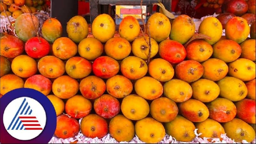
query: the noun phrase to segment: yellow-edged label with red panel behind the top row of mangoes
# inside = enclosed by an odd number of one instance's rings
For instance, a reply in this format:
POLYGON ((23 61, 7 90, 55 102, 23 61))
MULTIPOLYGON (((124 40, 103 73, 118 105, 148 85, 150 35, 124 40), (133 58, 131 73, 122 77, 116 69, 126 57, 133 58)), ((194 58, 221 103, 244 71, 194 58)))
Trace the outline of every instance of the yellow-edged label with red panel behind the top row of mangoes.
MULTIPOLYGON (((146 13, 147 6, 142 5, 142 13, 146 13)), ((141 19, 141 8, 140 5, 116 5, 116 15, 123 19, 126 16, 133 16, 136 19, 141 19)), ((143 15, 143 19, 146 16, 143 15)))

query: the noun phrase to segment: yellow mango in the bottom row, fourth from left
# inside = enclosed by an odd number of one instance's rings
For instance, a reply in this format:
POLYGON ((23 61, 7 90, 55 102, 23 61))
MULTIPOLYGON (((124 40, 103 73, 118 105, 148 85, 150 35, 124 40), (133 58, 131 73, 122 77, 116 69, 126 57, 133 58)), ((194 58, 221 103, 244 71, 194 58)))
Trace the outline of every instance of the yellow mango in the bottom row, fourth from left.
POLYGON ((160 142, 165 136, 163 124, 151 117, 146 117, 137 121, 135 124, 135 132, 140 140, 146 143, 160 142))

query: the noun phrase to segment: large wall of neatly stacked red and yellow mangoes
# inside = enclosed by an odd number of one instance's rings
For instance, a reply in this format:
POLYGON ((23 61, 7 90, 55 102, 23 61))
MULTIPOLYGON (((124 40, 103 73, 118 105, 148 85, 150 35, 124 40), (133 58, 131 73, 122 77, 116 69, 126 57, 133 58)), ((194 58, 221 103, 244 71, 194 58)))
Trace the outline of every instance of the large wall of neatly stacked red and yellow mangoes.
POLYGON ((44 22, 38 37, 39 22, 32 19, 21 14, 18 37, 1 37, 0 93, 23 87, 42 92, 56 111, 56 137, 81 131, 130 141, 136 134, 157 143, 166 133, 192 141, 198 129, 209 141, 224 133, 237 142, 255 139, 255 24, 250 29, 244 18, 228 20, 222 36, 215 17, 204 19, 195 34, 189 16, 170 23, 156 12, 142 36, 138 20, 127 16, 117 36, 107 14, 95 18, 92 34, 75 16, 68 37, 61 37, 55 18, 44 22))

